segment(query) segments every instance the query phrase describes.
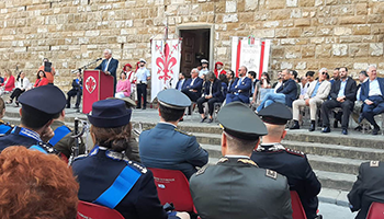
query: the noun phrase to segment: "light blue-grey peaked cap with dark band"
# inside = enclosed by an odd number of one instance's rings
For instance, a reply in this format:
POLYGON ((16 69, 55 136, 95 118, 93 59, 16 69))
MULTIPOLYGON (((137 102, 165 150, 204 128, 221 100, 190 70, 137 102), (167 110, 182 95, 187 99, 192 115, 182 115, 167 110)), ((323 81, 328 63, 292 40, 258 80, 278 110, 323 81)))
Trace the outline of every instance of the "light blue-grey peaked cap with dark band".
POLYGON ((191 105, 191 100, 176 89, 160 91, 157 94, 157 100, 161 105, 176 110, 184 110, 191 105))

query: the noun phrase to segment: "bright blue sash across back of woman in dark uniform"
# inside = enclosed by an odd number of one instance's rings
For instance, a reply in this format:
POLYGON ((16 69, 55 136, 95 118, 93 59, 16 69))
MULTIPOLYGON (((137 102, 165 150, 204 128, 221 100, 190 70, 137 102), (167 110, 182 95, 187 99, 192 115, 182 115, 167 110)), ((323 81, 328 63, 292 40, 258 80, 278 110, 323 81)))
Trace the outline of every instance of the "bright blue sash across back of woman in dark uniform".
MULTIPOLYGON (((98 153, 99 147, 97 147, 90 155, 98 153)), ((111 158, 112 159, 112 158, 111 158)), ((142 173, 134 168, 127 165, 118 174, 112 185, 104 191, 93 203, 102 206, 106 206, 111 209, 115 208, 120 201, 129 193, 132 187, 136 184, 142 173)))

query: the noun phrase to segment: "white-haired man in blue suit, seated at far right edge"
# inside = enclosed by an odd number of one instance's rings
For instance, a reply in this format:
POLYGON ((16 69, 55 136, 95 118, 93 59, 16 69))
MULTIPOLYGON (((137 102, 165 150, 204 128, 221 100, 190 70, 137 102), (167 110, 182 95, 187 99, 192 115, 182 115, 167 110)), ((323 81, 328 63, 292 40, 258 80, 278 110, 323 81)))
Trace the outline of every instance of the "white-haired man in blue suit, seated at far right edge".
POLYGON ((377 135, 380 126, 374 116, 384 113, 384 79, 377 78, 376 67, 366 70, 369 80, 361 84, 360 100, 363 102, 361 119, 365 118, 373 126, 372 135, 377 135))

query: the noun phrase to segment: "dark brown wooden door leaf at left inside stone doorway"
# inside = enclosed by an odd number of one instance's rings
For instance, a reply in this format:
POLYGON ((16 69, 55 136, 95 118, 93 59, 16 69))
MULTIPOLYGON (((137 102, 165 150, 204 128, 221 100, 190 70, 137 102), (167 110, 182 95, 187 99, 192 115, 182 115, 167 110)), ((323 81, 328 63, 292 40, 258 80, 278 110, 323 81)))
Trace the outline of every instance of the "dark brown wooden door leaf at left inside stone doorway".
POLYGON ((181 72, 190 74, 191 70, 195 68, 195 34, 190 32, 182 32, 182 46, 181 46, 181 72))

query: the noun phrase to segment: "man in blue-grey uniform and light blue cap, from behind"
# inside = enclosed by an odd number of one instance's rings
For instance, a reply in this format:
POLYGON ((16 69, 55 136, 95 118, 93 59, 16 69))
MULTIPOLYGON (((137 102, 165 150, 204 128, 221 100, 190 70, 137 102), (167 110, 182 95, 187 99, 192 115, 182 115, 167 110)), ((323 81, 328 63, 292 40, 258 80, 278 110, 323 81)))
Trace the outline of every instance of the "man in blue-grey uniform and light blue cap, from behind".
POLYGON ((208 162, 208 153, 196 137, 179 130, 178 123, 184 115, 190 99, 176 89, 157 94, 160 123, 139 136, 139 154, 147 168, 179 170, 187 178, 208 162))

